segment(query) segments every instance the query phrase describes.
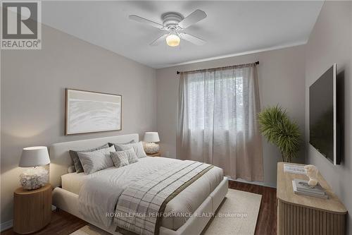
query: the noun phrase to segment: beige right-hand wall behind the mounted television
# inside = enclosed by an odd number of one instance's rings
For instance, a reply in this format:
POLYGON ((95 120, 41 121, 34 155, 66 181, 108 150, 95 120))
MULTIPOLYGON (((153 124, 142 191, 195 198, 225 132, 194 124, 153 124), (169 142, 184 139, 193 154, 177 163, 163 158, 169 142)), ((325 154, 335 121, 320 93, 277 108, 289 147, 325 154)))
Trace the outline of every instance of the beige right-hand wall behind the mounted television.
POLYGON ((352 2, 326 1, 306 45, 306 137, 309 131, 309 86, 327 68, 337 63, 344 73, 344 162, 334 166, 308 145, 308 162, 318 166, 322 176, 349 211, 349 233, 352 234, 352 2))

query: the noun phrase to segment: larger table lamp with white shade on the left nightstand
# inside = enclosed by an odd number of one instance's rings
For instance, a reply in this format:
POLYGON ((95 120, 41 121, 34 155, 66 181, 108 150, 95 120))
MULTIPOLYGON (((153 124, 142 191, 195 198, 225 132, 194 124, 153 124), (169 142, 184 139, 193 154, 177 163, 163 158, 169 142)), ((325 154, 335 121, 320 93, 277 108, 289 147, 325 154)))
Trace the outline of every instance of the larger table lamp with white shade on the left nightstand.
POLYGON ((18 167, 34 167, 20 174, 20 185, 33 190, 44 186, 49 181, 49 172, 43 165, 49 164, 49 152, 45 146, 25 147, 22 151, 18 167))

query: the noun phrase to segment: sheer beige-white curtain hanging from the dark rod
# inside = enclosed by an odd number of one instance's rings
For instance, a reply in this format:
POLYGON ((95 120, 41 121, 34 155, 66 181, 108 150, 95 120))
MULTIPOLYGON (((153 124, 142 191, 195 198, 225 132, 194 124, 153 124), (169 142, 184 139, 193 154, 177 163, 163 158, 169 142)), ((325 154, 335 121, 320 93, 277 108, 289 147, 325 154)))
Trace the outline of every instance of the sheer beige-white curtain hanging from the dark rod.
POLYGON ((263 181, 255 64, 181 73, 177 158, 207 162, 233 179, 263 181))

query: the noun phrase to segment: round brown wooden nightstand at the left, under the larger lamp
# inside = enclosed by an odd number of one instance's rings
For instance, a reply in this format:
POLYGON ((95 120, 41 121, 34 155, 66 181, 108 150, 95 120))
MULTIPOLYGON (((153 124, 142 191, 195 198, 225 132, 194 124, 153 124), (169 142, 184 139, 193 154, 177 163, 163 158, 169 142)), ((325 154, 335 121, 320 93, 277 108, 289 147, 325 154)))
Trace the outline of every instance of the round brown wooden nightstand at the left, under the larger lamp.
POLYGON ((30 234, 49 224, 51 219, 51 184, 27 191, 17 188, 13 193, 13 231, 30 234))

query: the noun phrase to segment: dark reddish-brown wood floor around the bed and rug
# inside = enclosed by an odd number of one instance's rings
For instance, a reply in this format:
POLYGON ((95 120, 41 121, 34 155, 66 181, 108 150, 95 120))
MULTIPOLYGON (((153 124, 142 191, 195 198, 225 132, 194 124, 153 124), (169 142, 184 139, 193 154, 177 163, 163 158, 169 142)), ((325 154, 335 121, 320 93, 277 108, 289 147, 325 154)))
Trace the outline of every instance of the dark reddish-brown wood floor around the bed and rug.
MULTIPOLYGON (((229 188, 250 193, 257 193, 262 195, 260 210, 258 215, 258 222, 256 225, 256 235, 272 235, 276 234, 276 189, 265 186, 257 186, 249 183, 240 183, 237 181, 229 181, 229 188)), ((53 212, 51 215, 51 222, 44 229, 34 233, 35 235, 68 235, 81 227, 84 227, 87 222, 79 219, 73 215, 60 210, 53 212)), ((1 235, 16 234, 12 229, 1 232, 1 235)), ((224 234, 225 235, 225 234, 224 234)), ((229 234, 230 235, 230 234, 229 234)))

